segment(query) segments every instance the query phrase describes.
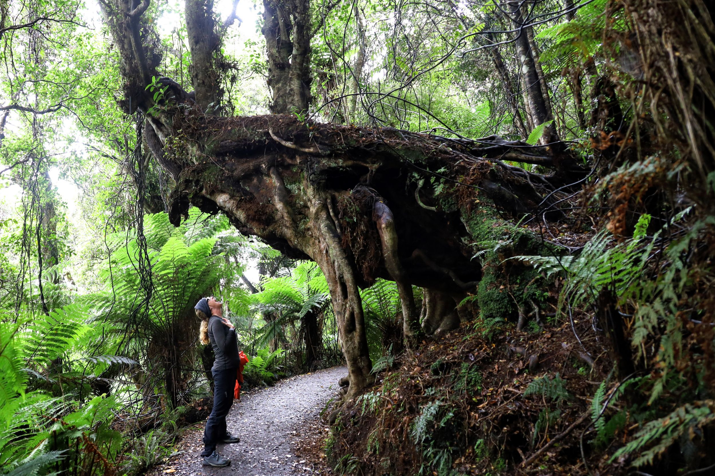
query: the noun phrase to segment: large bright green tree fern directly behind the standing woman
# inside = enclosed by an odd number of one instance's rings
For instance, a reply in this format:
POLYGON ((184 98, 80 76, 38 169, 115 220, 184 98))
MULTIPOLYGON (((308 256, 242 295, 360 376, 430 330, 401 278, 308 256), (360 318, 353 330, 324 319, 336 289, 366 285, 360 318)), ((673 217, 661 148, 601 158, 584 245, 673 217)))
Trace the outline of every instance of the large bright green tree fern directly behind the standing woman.
MULTIPOLYGON (((194 214, 194 219, 198 217, 194 214)), ((90 322, 106 323, 104 331, 123 343, 120 353, 147 369, 157 369, 152 375, 164 380, 169 402, 177 405, 182 396, 174 385, 175 375, 164 367, 187 365, 193 352, 197 352, 192 344, 198 337, 199 322, 193 307, 216 287, 224 261, 212 254, 215 238, 194 233, 192 226, 170 233, 167 224, 167 214, 163 212, 147 217, 144 232, 151 264, 148 276, 142 277, 138 272, 143 251, 137 239, 131 239, 115 249, 109 267, 100 273, 107 291, 90 294, 83 300, 92 306, 90 322), (176 335, 186 337, 176 339, 176 335), (157 362, 150 354, 166 357, 157 362)))

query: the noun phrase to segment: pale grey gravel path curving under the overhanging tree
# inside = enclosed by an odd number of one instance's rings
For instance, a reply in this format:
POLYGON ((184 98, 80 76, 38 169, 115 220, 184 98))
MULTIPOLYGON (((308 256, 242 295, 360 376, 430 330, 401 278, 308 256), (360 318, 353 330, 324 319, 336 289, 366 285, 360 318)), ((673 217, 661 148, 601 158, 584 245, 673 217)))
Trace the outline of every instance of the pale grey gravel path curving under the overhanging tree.
POLYGON ((229 431, 240 436, 241 442, 217 448, 221 455, 230 458, 229 467, 201 465, 199 452, 203 447, 203 425, 200 425, 184 437, 179 445, 182 452, 150 473, 187 476, 312 474, 310 464, 293 455, 293 443, 301 435, 301 425, 317 420, 325 402, 337 395, 337 380, 345 375, 346 367, 332 367, 296 375, 281 380, 274 387, 241 395, 240 402, 234 402, 227 417, 229 431))

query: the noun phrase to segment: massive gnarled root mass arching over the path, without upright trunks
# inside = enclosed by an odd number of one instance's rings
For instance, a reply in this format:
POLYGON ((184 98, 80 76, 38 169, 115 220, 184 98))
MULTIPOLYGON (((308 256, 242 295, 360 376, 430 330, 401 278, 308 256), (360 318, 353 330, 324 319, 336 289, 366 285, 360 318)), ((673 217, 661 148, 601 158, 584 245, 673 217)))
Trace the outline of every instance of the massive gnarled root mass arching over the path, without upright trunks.
POLYGON ((172 222, 194 204, 227 214, 242 232, 289 256, 317 262, 340 327, 348 398, 371 382, 360 287, 378 277, 398 283, 408 338, 453 329, 460 322, 455 298, 473 291, 481 273, 465 226, 471 205, 493 203, 514 216, 536 211, 545 195, 583 173, 513 170, 488 157, 558 161, 546 148, 530 147, 526 156, 525 144, 495 138, 469 142, 290 116, 217 118, 195 108, 177 111, 171 124, 162 161, 179 170, 172 222), (441 201, 435 181, 449 191, 441 201), (413 284, 426 289, 422 329, 413 284))

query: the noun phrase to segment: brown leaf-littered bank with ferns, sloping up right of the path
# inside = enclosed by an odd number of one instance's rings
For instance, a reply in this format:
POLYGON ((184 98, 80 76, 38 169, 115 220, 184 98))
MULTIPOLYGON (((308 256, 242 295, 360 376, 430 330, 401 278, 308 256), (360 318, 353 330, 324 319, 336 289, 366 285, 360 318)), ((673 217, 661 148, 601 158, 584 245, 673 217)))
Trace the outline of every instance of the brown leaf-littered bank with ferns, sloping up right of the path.
MULTIPOLYGON (((665 230, 644 214, 628 239, 572 234, 572 243, 582 243, 578 256, 504 259, 501 265, 528 263, 550 280, 541 317, 522 326, 521 310, 518 322, 506 322, 480 310, 479 292, 465 299, 472 319, 414 351, 383 357, 375 386, 330 415, 330 436, 312 452, 344 475, 709 471, 712 328, 679 310, 676 289, 708 302, 711 281, 701 282, 703 269, 689 267, 683 252, 699 249, 709 263, 711 240, 699 230, 711 219, 684 227, 688 213, 664 227, 681 230, 667 245, 665 230), (654 262, 657 254, 671 262, 654 262), (615 311, 622 327, 609 320, 604 292, 613 293, 611 306, 631 311, 615 311), (619 332, 633 353, 618 348, 619 332), (686 355, 689 363, 676 372, 686 355)), ((506 282, 483 285, 511 294, 506 282)))

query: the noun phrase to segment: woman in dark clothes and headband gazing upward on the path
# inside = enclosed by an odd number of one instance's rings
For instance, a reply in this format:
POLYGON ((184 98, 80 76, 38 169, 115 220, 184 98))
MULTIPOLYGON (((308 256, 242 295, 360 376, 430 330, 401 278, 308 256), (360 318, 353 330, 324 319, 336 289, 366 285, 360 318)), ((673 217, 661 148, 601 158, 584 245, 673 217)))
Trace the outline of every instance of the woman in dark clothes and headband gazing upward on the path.
POLYGON ((211 342, 216 360, 211 368, 214 376, 214 408, 204 430, 204 450, 201 452, 204 466, 228 466, 231 460, 216 452, 218 443, 237 443, 238 437, 226 429, 226 415, 233 404, 233 389, 240 364, 236 329, 223 317, 221 303, 215 297, 204 297, 194 306, 201 319, 199 339, 202 344, 211 342))

